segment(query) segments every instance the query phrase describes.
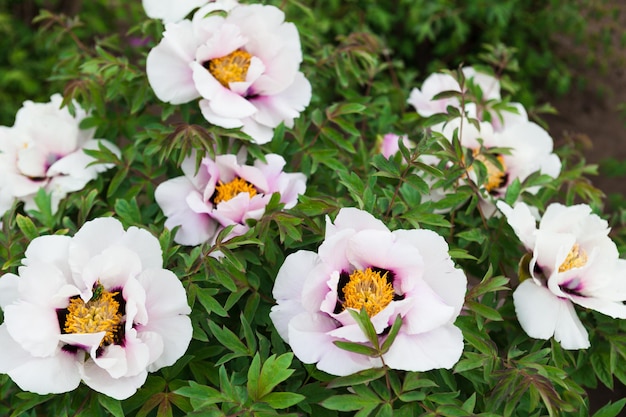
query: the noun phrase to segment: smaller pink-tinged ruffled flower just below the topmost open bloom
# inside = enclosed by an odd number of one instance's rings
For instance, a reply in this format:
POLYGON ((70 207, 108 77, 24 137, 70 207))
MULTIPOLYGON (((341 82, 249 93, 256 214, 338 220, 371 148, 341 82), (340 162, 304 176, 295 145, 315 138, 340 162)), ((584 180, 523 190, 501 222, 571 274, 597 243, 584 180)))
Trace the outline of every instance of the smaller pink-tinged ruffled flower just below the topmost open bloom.
POLYGON ((234 226, 229 237, 249 228, 248 219, 260 219, 273 193, 280 194, 285 208, 292 208, 306 190, 306 176, 283 172, 282 156, 269 154, 266 162, 245 165, 245 154, 204 157, 196 171, 195 154, 182 164, 185 174, 160 184, 154 197, 167 216, 165 226, 180 226, 174 241, 182 245, 214 242, 216 234, 234 226))

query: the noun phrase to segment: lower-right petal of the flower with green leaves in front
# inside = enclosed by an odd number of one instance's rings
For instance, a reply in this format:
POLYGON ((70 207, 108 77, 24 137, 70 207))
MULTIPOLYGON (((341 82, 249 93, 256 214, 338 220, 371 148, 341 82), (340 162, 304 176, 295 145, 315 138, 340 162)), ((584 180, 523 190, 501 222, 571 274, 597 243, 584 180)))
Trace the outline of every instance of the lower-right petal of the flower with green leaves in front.
POLYGON ((451 369, 462 353, 463 333, 449 324, 416 335, 400 330, 384 359, 387 366, 393 369, 424 372, 451 369))

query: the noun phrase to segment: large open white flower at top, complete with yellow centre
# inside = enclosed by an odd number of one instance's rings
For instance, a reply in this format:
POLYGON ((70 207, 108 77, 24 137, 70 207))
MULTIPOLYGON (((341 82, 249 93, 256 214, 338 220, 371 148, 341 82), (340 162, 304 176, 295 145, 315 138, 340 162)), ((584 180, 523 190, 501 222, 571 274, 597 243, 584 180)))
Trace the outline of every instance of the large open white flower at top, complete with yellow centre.
POLYGON ((311 100, 299 71, 298 30, 284 19, 278 8, 254 4, 226 16, 202 8, 193 20, 168 24, 148 54, 150 85, 172 104, 201 98, 206 120, 266 143, 280 123, 293 126, 311 100))

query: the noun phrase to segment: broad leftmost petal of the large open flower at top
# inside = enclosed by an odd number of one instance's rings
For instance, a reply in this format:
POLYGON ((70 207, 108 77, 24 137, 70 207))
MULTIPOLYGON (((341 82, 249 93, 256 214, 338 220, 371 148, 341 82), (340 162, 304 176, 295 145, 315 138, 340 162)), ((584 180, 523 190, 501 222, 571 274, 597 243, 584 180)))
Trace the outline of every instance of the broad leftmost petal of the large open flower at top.
POLYGON ((196 42, 191 22, 183 20, 168 24, 163 39, 148 54, 146 74, 159 100, 181 104, 200 96, 190 68, 196 42))

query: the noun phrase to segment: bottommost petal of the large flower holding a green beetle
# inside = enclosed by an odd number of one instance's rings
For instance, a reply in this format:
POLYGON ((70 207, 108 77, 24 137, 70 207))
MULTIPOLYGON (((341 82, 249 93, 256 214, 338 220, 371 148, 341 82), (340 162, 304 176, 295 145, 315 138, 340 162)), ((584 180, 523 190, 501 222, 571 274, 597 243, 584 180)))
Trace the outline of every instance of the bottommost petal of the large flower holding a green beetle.
POLYGON ((144 371, 131 377, 113 378, 91 360, 85 362, 80 371, 87 386, 116 400, 125 400, 133 395, 146 382, 148 376, 144 371))

